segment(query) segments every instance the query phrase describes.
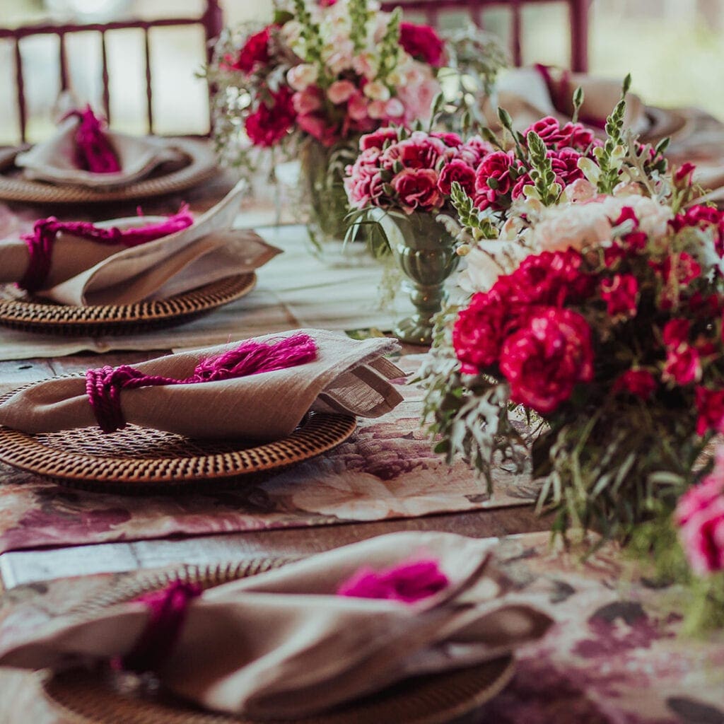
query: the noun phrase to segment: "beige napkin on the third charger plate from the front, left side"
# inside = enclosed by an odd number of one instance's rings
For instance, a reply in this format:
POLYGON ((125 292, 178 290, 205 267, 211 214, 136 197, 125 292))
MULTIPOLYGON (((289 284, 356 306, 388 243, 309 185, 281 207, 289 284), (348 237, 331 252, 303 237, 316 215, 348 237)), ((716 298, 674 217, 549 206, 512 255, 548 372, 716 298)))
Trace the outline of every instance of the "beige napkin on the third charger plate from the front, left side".
MULTIPOLYGON (((232 230, 245 188, 243 182, 237 184, 190 227, 130 248, 60 232, 54 242, 48 288, 35 293, 62 304, 131 304, 169 298, 258 269, 280 250, 256 232, 232 230)), ((137 216, 96 226, 128 229, 163 220, 137 216)), ((24 241, 18 237, 0 240, 0 282, 20 279, 28 261, 24 241)))

